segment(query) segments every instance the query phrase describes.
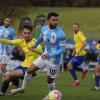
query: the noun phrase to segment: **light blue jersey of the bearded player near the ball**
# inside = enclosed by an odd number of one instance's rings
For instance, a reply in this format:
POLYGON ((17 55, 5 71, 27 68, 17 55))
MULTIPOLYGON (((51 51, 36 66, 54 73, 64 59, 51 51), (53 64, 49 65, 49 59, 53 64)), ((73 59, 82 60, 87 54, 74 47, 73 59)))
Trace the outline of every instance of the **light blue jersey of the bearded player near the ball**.
POLYGON ((43 26, 41 34, 34 45, 36 48, 42 41, 45 41, 45 53, 48 54, 47 60, 54 64, 60 64, 61 54, 65 50, 65 33, 60 27, 49 29, 48 25, 43 26))

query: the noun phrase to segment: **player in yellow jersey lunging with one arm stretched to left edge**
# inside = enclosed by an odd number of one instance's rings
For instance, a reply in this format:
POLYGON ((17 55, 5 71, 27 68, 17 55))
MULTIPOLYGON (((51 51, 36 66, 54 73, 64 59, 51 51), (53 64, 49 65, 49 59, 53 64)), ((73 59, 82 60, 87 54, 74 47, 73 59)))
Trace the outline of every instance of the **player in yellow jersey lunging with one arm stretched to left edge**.
POLYGON ((32 29, 33 29, 32 25, 23 26, 22 33, 21 33, 22 37, 20 39, 16 39, 16 40, 0 39, 0 43, 19 46, 25 53, 25 60, 21 63, 21 65, 17 66, 11 72, 5 73, 4 81, 1 86, 0 95, 4 95, 11 81, 13 81, 14 85, 18 87, 19 78, 24 77, 27 68, 42 53, 42 48, 40 45, 33 51, 28 50, 28 48, 34 45, 36 41, 35 38, 32 37, 32 29))

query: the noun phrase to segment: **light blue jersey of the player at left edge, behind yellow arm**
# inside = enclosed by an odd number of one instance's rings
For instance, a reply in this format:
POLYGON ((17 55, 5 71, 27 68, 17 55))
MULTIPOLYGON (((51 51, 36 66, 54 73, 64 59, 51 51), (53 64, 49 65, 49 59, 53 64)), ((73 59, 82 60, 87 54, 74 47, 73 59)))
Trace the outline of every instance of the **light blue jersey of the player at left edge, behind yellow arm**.
MULTIPOLYGON (((12 27, 5 28, 4 26, 0 26, 0 38, 15 39, 16 34, 12 27)), ((12 50, 13 46, 0 44, 0 54, 7 54, 12 50)))

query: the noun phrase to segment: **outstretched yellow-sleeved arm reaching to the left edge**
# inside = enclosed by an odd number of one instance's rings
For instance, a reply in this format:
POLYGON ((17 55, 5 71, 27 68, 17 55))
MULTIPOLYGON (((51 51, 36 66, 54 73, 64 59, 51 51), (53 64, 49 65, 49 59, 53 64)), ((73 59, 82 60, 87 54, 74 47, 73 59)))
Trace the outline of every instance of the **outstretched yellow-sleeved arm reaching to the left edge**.
POLYGON ((0 38, 0 43, 3 43, 3 44, 12 44, 12 45, 19 45, 21 43, 21 39, 9 40, 9 39, 1 39, 0 38))

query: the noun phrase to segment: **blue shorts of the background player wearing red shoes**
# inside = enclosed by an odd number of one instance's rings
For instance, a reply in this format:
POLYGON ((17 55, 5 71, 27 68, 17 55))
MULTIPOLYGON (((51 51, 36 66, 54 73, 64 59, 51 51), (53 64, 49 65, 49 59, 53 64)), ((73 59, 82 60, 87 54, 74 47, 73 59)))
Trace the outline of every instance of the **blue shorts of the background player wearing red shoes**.
POLYGON ((85 56, 74 56, 68 63, 79 66, 85 61, 85 56))

